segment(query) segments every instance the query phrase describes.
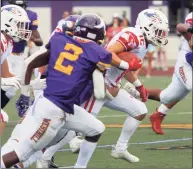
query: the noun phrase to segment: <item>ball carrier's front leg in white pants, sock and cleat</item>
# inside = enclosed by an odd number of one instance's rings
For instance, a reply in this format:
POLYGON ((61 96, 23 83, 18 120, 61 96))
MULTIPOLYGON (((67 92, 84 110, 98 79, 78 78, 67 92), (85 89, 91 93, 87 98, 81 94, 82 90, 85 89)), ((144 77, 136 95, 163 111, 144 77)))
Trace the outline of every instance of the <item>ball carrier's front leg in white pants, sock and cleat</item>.
POLYGON ((132 97, 125 90, 120 89, 118 95, 112 101, 107 101, 105 106, 129 115, 124 122, 121 135, 111 155, 114 158, 123 158, 129 162, 138 162, 139 159, 127 151, 127 145, 131 136, 146 116, 147 108, 145 104, 132 97))

